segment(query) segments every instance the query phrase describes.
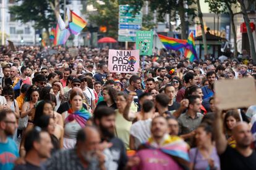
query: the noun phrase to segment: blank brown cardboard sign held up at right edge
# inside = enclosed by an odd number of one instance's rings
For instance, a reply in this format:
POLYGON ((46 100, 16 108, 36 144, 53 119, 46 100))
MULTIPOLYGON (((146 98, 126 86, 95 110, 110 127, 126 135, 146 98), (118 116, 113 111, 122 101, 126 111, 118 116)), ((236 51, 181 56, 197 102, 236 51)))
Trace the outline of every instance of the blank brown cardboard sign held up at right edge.
POLYGON ((256 104, 254 79, 223 79, 215 83, 216 106, 221 110, 256 104))

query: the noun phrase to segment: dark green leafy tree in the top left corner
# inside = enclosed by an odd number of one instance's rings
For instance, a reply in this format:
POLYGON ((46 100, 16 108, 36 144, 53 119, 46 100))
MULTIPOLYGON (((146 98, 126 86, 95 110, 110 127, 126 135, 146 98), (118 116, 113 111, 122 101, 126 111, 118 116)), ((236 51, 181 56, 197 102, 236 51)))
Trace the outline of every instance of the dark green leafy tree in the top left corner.
POLYGON ((56 25, 56 14, 59 14, 59 0, 17 0, 22 4, 11 6, 10 13, 15 15, 15 20, 22 23, 34 22, 34 28, 45 28, 49 44, 49 28, 56 25), (55 14, 55 15, 54 15, 55 14))

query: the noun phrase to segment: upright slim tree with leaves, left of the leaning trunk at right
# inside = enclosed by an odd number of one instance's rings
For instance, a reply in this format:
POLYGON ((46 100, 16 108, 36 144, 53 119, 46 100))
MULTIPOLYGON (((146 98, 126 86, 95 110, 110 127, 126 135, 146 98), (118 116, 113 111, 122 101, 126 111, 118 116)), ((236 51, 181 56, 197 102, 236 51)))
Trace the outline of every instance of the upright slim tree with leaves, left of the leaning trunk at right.
POLYGON ((237 0, 205 0, 208 2, 210 11, 215 14, 228 13, 231 19, 231 28, 234 37, 234 56, 237 57, 237 37, 236 37, 236 26, 234 25, 234 14, 232 10, 233 5, 237 5, 237 0))

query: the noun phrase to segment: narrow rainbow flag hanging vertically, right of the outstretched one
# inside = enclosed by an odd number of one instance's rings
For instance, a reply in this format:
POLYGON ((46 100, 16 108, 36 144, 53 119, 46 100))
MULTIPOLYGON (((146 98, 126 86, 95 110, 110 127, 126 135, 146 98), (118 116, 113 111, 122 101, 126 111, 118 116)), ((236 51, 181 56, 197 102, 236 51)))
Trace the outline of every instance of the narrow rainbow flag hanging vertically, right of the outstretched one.
POLYGON ((192 32, 189 34, 189 38, 187 38, 187 44, 186 50, 184 52, 184 56, 190 60, 190 62, 193 62, 194 60, 198 60, 197 58, 197 51, 195 51, 195 39, 192 32))

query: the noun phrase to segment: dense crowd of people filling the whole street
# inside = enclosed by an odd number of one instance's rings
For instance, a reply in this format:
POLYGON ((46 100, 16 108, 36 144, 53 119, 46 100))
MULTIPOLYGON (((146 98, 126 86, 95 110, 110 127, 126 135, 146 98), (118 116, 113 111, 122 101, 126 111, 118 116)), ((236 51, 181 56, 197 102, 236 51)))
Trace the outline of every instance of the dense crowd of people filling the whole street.
POLYGON ((220 110, 214 96, 220 79, 256 82, 246 51, 162 50, 109 73, 108 47, 20 46, 0 65, 0 169, 256 169, 256 105, 220 110))

